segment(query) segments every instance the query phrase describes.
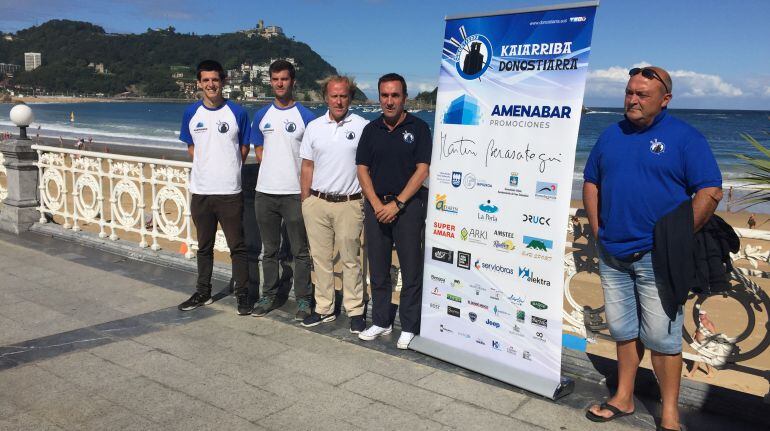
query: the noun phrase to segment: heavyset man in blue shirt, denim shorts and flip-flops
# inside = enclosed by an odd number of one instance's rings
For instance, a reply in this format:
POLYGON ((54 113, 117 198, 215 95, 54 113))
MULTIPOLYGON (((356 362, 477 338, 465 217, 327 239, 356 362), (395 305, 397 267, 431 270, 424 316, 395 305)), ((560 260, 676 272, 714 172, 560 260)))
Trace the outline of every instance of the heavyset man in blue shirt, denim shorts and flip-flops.
POLYGON ((722 199, 722 175, 703 135, 668 114, 669 74, 644 67, 629 76, 625 118, 602 133, 583 173, 583 204, 598 239, 605 313, 618 358, 617 392, 586 416, 607 422, 634 412, 634 380, 648 348, 663 404, 658 429, 678 430, 683 312, 679 306, 672 320, 662 306, 650 253, 653 231, 693 195, 694 230, 700 230, 722 199))

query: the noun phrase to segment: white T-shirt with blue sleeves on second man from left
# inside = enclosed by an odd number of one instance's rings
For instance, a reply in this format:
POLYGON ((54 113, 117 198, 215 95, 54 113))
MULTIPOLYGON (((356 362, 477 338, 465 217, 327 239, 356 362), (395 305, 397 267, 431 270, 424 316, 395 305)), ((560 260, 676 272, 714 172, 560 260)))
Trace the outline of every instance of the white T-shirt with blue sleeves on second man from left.
POLYGON ((299 146, 305 126, 315 119, 306 107, 295 103, 279 108, 275 103, 257 111, 251 123, 251 143, 262 146, 256 190, 274 195, 299 194, 302 159, 299 146))

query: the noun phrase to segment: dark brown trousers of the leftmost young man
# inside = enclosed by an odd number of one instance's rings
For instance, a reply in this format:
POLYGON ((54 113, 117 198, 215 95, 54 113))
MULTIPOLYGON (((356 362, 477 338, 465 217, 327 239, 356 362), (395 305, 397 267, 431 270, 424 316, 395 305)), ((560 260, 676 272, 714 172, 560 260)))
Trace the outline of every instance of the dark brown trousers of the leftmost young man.
POLYGON ((222 226, 230 258, 233 263, 233 280, 236 295, 248 293, 249 268, 246 260, 246 244, 243 241, 243 197, 234 195, 192 195, 190 213, 198 234, 198 282, 199 293, 211 294, 211 272, 214 269, 214 237, 217 223, 222 226))

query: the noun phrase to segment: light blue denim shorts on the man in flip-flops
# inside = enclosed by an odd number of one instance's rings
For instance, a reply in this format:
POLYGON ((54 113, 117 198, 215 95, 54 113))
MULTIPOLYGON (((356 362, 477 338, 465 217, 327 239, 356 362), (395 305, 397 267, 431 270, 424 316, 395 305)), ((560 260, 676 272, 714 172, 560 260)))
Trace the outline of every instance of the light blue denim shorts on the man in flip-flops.
POLYGON ((652 253, 636 262, 623 262, 599 245, 599 273, 604 290, 605 314, 610 335, 615 341, 639 338, 650 350, 677 354, 682 352, 682 306, 671 320, 663 311, 652 253))

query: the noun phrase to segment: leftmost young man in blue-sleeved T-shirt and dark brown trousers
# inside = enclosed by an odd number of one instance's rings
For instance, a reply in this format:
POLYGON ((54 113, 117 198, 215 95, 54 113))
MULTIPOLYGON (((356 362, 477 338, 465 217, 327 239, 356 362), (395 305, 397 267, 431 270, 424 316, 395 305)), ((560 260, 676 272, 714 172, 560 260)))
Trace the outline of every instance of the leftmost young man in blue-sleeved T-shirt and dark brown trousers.
POLYGON ((214 237, 222 226, 230 248, 239 315, 251 314, 246 244, 243 241, 241 165, 249 154, 249 117, 246 111, 222 96, 225 71, 214 60, 197 67, 203 98, 190 105, 182 118, 179 139, 193 160, 190 172, 190 213, 198 240, 196 292, 179 304, 182 311, 211 304, 214 237))

